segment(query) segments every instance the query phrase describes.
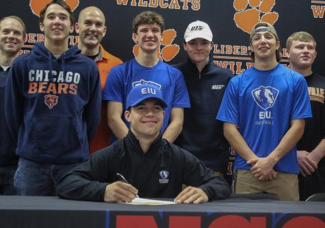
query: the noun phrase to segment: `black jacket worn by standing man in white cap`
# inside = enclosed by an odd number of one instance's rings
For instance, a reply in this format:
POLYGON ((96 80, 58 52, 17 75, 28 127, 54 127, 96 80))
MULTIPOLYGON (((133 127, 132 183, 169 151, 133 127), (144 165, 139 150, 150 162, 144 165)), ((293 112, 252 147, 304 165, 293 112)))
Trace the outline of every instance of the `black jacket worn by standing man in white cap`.
POLYGON ((201 73, 190 59, 174 67, 184 75, 191 102, 191 107, 184 110, 183 130, 174 143, 212 170, 225 173, 230 146, 216 115, 233 73, 214 64, 211 56, 201 73))

